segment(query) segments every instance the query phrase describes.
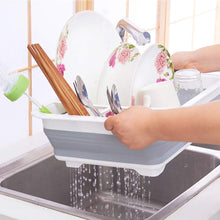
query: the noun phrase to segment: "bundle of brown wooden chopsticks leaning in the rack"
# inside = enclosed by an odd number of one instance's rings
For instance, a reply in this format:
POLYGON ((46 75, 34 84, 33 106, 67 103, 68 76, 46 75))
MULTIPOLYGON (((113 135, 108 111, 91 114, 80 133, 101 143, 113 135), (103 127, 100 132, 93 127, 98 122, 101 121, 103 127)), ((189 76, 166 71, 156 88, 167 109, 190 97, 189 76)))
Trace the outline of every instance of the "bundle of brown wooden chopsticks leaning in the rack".
POLYGON ((28 50, 46 76, 69 115, 89 115, 72 88, 39 44, 28 45, 28 50))

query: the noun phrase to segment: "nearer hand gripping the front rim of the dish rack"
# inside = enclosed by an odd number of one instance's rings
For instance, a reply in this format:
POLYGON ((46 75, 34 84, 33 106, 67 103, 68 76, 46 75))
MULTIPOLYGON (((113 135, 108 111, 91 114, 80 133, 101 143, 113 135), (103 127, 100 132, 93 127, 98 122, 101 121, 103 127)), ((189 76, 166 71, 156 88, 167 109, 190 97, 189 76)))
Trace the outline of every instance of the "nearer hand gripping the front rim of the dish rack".
POLYGON ((156 141, 156 118, 153 111, 134 106, 105 121, 105 129, 131 149, 142 149, 156 141))

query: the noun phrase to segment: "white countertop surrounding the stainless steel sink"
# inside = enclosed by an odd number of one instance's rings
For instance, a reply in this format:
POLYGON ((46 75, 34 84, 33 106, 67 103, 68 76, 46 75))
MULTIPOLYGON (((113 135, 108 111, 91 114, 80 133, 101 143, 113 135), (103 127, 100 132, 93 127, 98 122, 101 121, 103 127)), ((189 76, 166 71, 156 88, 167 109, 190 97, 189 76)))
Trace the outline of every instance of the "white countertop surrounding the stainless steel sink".
MULTIPOLYGON (((10 160, 25 154, 42 145, 50 145, 43 133, 27 137, 20 142, 0 147, 0 165, 7 164, 10 160)), ((220 178, 212 182, 189 202, 177 209, 176 212, 167 217, 167 220, 181 219, 220 219, 220 178)), ((52 209, 44 208, 32 203, 0 195, 0 219, 19 220, 73 220, 81 219, 52 209)))

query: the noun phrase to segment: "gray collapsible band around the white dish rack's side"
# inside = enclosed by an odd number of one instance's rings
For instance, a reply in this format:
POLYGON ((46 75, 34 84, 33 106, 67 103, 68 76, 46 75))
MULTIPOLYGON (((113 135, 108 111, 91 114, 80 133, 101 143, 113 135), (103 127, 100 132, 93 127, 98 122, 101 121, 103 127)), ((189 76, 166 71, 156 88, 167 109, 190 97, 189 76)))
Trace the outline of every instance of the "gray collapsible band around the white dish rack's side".
POLYGON ((184 150, 184 142, 157 141, 132 150, 113 135, 44 129, 56 156, 120 163, 158 165, 184 150))

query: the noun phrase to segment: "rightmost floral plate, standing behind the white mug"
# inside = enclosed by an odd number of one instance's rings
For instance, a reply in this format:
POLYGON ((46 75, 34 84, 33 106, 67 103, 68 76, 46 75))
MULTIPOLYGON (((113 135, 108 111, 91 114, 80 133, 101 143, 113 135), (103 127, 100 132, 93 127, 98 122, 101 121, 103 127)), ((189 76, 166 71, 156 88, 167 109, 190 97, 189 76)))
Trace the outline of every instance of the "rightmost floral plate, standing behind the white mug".
POLYGON ((142 54, 138 64, 132 92, 132 105, 138 105, 138 91, 155 82, 174 78, 173 63, 168 50, 161 44, 153 44, 142 54))

